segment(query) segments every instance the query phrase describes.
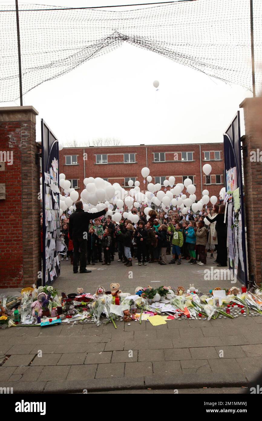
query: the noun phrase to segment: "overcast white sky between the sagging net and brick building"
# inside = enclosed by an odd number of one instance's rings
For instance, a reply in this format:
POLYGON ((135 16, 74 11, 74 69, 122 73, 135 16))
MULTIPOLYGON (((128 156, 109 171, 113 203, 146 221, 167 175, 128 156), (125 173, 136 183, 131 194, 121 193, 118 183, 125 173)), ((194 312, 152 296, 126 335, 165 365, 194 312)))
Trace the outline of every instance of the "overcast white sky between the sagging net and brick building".
MULTIPOLYGON (((50 0, 46 3, 82 7, 144 2, 50 0)), ((84 146, 98 137, 114 137, 124 145, 132 145, 222 142, 222 134, 239 104, 249 96, 251 93, 240 86, 226 85, 126 43, 64 76, 42 83, 27 93, 23 101, 39 112, 38 141, 40 118, 43 118, 63 144, 76 139, 84 146), (159 80, 159 91, 153 87, 154 80, 159 80)), ((7 105, 20 103, 1 104, 7 105)), ((243 121, 241 129, 243 134, 243 121)))

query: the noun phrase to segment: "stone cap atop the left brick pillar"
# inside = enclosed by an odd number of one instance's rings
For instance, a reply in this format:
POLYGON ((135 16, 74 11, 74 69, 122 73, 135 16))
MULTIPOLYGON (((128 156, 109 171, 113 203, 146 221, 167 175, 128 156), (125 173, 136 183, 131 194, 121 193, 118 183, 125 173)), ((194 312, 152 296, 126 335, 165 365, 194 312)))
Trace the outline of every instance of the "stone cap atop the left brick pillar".
POLYGON ((0 107, 1 121, 32 121, 36 123, 35 116, 38 111, 32 105, 24 105, 22 107, 0 107))

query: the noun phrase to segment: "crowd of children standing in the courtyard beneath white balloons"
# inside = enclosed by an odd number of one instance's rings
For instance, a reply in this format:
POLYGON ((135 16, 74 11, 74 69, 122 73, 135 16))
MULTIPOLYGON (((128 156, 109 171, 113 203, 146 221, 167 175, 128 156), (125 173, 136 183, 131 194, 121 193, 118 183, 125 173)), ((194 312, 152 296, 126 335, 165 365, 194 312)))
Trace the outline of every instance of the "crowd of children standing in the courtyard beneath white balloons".
MULTIPOLYGON (((219 206, 214 205, 212 217, 217 215, 218 209, 219 206)), ((205 226, 204 210, 198 216, 188 215, 188 220, 171 210, 168 216, 150 210, 149 218, 143 210, 138 212, 134 209, 133 212, 140 217, 138 224, 124 218, 117 224, 110 215, 90 221, 87 265, 111 265, 116 253, 118 262, 123 262, 126 266, 132 266, 133 259, 138 261, 139 266, 155 262, 166 265, 169 254, 172 254, 169 264, 178 265, 182 260, 186 260, 188 264, 206 265, 208 251, 213 258, 217 247, 217 232, 215 223, 205 226)), ((72 264, 73 246, 66 218, 61 219, 61 233, 68 250, 66 260, 71 258, 72 264)))

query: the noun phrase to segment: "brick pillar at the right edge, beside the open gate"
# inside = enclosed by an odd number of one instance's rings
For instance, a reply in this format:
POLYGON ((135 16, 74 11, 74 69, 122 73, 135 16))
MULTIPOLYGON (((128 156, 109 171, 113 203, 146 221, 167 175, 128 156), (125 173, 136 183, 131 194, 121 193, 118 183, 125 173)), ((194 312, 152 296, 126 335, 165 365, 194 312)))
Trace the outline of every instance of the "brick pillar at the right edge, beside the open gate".
POLYGON ((239 107, 244 110, 246 131, 242 144, 246 147, 246 151, 243 151, 243 168, 249 279, 253 275, 255 282, 260 284, 262 271, 262 98, 246 98, 239 107))

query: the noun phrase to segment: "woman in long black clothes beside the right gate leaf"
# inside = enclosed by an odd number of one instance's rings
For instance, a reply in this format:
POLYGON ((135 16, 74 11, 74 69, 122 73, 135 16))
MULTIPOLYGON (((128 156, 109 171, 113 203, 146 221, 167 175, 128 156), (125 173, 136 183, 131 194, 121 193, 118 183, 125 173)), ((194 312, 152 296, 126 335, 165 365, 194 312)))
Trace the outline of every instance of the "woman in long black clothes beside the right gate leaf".
POLYGON ((228 248, 227 248, 227 237, 228 237, 228 226, 224 223, 225 219, 225 205, 220 205, 219 213, 214 218, 209 218, 210 211, 206 210, 206 219, 212 224, 216 222, 217 231, 217 266, 228 266, 228 248))

